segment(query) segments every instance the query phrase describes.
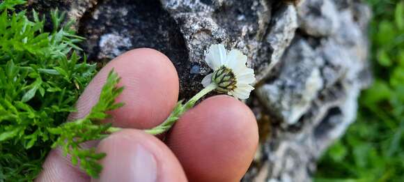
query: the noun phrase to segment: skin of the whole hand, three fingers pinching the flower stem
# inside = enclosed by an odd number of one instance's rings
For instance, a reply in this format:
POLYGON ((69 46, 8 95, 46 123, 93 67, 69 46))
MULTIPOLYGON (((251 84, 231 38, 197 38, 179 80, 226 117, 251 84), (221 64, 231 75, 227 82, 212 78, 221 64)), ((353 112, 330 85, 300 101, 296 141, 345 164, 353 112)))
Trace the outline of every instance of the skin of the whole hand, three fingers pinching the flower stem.
POLYGON ((251 110, 229 96, 213 96, 185 113, 165 141, 142 130, 162 123, 178 100, 176 68, 151 49, 126 52, 94 77, 77 102, 79 119, 90 111, 114 68, 125 89, 110 114, 121 132, 87 146, 107 153, 99 179, 91 179, 59 149, 49 153, 36 181, 240 181, 258 146, 258 127, 251 110))

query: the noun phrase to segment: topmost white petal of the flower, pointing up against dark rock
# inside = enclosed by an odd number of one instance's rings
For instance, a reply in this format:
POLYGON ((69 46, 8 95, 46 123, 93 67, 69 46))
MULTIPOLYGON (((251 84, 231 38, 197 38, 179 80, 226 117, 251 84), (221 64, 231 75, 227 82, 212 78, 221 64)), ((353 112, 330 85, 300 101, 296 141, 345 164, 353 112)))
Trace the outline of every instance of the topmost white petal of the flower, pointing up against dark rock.
POLYGON ((227 54, 224 45, 210 45, 205 61, 212 70, 217 70, 220 66, 227 65, 227 54))

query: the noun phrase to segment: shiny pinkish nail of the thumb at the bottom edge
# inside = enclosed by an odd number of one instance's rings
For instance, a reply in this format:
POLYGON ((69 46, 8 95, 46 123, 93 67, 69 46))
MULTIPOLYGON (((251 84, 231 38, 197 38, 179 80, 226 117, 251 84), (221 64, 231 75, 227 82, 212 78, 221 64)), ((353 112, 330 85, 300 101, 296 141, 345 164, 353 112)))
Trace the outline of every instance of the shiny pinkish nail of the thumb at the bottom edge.
POLYGON ((157 161, 153 153, 140 144, 107 151, 102 165, 100 179, 93 181, 157 181, 157 161))

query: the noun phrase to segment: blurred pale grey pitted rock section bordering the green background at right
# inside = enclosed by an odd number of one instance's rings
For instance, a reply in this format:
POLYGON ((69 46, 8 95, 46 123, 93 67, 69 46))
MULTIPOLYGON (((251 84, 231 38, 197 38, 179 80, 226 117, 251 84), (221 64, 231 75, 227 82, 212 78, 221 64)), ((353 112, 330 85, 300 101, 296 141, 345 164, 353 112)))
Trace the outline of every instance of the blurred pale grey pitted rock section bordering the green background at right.
MULTIPOLYGON (((299 31, 283 54, 280 72, 256 89, 261 102, 251 105, 261 110, 258 119, 272 116, 261 158, 250 169, 260 178, 267 172, 267 181, 311 181, 316 159, 355 121, 359 92, 371 82, 367 6, 307 0, 297 12, 299 31), (313 7, 318 12, 309 10, 313 7)), ((254 180, 254 174, 244 181, 254 180)))

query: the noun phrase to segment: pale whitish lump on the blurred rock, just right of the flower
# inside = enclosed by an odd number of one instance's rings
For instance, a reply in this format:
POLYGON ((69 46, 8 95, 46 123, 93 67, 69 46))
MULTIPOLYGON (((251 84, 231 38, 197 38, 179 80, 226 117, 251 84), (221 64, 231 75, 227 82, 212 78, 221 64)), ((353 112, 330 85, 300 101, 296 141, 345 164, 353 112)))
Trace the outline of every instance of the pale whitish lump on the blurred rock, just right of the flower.
POLYGON ((319 70, 323 60, 304 40, 296 40, 283 59, 279 77, 257 88, 256 93, 274 116, 291 125, 307 112, 323 87, 319 70))

